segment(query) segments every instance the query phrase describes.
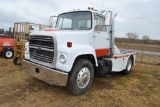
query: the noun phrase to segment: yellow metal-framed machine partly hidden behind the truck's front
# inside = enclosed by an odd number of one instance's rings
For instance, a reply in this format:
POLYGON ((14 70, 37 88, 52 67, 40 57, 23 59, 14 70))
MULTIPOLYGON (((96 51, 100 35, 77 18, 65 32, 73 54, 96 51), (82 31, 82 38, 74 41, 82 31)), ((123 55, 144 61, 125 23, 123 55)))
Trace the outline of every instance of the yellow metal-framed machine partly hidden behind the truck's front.
POLYGON ((14 59, 15 65, 20 65, 24 59, 25 43, 29 41, 29 34, 33 31, 43 31, 50 26, 34 24, 29 22, 14 23, 14 59))

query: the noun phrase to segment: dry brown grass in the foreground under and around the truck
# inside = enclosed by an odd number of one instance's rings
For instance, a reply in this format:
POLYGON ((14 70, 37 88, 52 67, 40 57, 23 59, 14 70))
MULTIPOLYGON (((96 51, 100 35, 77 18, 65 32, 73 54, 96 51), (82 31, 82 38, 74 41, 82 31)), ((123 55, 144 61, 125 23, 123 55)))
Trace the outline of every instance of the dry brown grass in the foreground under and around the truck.
POLYGON ((137 63, 131 75, 95 78, 91 89, 73 96, 66 87, 37 80, 12 60, 0 58, 2 107, 159 107, 160 66, 137 63))

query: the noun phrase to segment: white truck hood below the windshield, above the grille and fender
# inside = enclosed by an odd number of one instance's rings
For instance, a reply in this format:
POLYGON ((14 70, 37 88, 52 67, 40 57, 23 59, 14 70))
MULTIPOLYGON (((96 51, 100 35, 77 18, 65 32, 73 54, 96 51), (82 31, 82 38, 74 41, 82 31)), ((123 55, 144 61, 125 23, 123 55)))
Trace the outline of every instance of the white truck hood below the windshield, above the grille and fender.
MULTIPOLYGON (((48 35, 56 39, 57 45, 66 45, 67 42, 73 44, 87 45, 92 44, 93 33, 88 30, 47 30, 31 33, 31 35, 48 35)), ((74 46, 74 45, 73 45, 74 46)))

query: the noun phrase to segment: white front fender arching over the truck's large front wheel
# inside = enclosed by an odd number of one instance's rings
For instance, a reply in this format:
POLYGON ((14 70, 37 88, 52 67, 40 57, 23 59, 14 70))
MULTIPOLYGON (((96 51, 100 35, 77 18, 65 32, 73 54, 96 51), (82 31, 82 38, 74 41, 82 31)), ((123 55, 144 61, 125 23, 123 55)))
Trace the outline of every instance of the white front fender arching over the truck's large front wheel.
POLYGON ((96 66, 98 66, 95 49, 92 46, 74 45, 73 47, 69 48, 69 47, 66 47, 66 45, 65 46, 63 45, 63 46, 60 46, 57 51, 58 51, 58 54, 57 54, 56 68, 59 70, 63 70, 65 72, 71 71, 76 58, 80 55, 86 55, 86 54, 93 55, 96 66), (66 56, 65 63, 62 63, 60 61, 61 55, 66 56))

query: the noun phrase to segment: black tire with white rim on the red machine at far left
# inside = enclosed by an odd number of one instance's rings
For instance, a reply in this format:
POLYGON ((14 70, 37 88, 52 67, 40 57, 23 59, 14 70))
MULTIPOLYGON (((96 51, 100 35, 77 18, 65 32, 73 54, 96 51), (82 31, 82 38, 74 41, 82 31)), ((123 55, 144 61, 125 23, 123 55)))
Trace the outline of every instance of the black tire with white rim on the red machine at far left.
POLYGON ((11 59, 14 56, 14 50, 12 48, 3 49, 2 55, 6 59, 11 59))

